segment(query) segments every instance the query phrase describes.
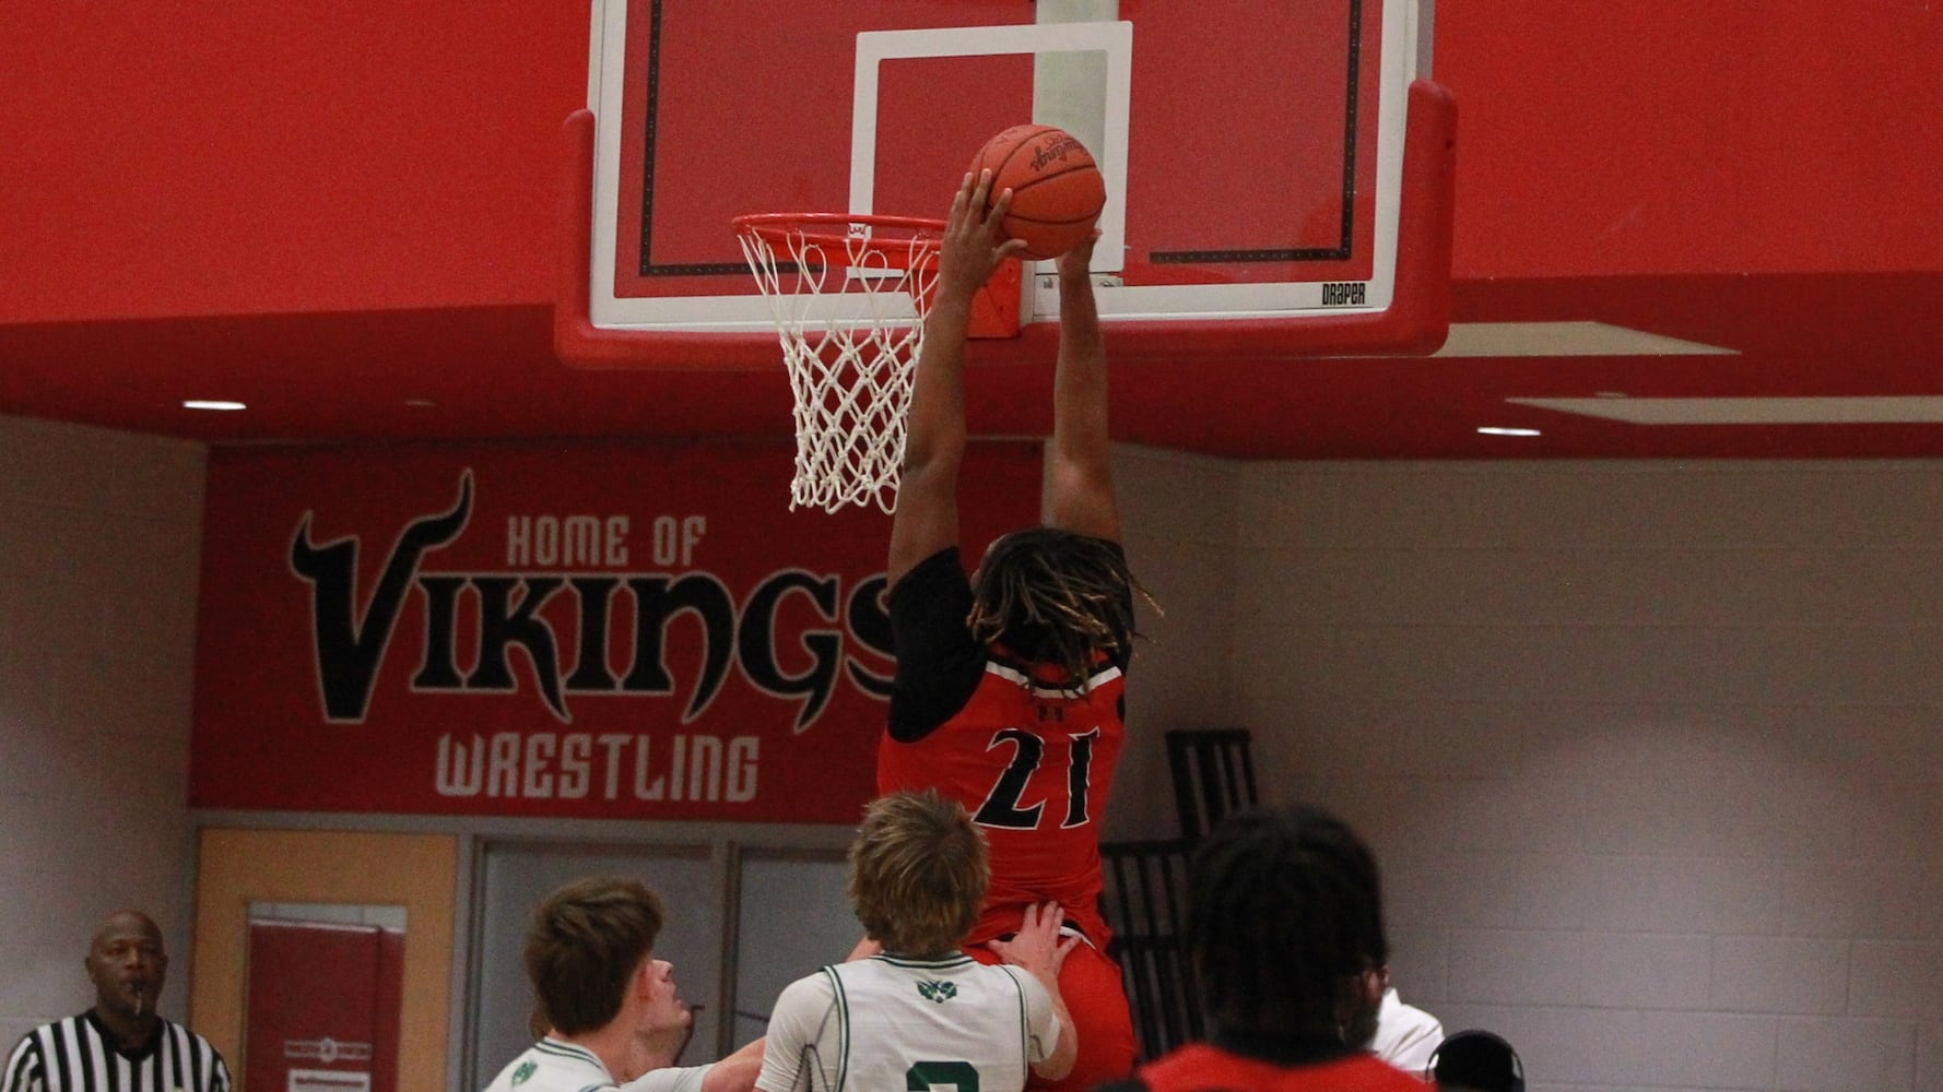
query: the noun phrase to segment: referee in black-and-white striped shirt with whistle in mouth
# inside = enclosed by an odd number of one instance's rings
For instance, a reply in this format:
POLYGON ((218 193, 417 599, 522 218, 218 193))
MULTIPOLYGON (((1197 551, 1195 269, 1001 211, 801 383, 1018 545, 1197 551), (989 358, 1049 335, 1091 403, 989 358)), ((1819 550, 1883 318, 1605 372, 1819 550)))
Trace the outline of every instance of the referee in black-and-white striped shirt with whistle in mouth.
POLYGON ((146 913, 103 921, 82 962, 95 1007, 27 1032, 6 1059, 0 1092, 229 1092, 223 1055, 155 1014, 169 956, 146 913))

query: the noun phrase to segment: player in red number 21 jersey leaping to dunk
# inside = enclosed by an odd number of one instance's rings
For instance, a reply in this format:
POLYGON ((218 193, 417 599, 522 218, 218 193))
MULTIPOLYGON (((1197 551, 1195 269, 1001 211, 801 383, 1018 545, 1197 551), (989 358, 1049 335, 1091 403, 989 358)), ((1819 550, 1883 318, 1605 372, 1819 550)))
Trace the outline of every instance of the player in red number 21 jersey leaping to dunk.
POLYGON ((1041 1088, 1090 1088, 1133 1069, 1133 1022, 1100 917, 1100 816, 1125 734, 1121 672, 1135 581, 1119 546, 1108 451, 1106 350, 1088 262, 1059 258, 1047 527, 991 544, 970 579, 958 554, 966 449, 964 356, 973 293, 1001 260, 1008 194, 985 210, 991 173, 966 177, 938 253, 890 530, 898 676, 878 748, 878 791, 937 787, 991 845, 991 892, 968 950, 1057 902, 1084 938, 1059 973, 1078 1061, 1041 1088))

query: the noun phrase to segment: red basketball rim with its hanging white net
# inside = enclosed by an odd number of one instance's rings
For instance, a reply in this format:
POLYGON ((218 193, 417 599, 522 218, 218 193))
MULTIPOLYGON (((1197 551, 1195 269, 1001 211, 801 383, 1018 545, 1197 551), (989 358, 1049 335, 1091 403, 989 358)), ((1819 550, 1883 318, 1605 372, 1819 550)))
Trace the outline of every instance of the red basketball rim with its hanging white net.
POLYGON ((896 509, 940 229, 938 222, 837 214, 736 222, 797 396, 791 509, 896 509))

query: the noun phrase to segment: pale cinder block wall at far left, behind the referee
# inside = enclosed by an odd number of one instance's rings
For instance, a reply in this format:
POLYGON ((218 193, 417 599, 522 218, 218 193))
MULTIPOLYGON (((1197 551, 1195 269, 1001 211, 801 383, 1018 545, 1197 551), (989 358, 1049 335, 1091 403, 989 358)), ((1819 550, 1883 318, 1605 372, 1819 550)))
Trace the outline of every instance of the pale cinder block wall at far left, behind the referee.
POLYGON ((194 443, 0 418, 0 1049, 93 1003, 87 937, 130 905, 183 1016, 202 482, 194 443))

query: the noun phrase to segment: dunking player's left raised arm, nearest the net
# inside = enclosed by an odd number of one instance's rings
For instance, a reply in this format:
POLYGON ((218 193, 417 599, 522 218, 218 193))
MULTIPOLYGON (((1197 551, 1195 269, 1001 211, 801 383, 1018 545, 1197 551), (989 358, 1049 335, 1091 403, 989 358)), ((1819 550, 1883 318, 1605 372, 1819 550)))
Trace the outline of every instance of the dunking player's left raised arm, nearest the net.
POLYGON ((958 462, 966 449, 966 328, 972 297, 999 262, 1026 245, 999 239, 999 222, 1012 190, 985 212, 991 171, 966 175, 952 198, 938 245, 938 286, 925 317, 925 348, 917 356, 911 410, 903 435, 898 511, 890 517, 890 565, 896 587, 919 562, 958 542, 958 462))

